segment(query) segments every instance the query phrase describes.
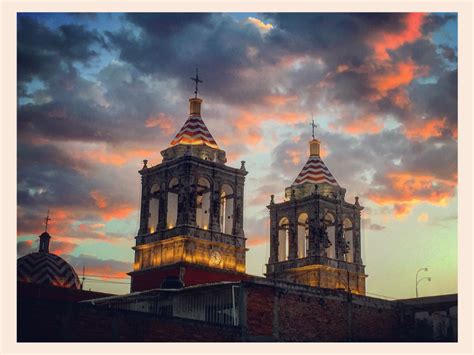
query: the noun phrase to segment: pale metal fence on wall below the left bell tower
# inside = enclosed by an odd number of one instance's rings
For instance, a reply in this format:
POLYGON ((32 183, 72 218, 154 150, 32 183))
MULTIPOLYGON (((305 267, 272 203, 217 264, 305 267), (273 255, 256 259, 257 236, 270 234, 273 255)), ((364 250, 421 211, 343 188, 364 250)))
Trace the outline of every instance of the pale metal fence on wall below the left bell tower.
POLYGON ((157 290, 89 301, 96 306, 151 313, 160 317, 193 319, 229 326, 239 325, 239 286, 157 290))

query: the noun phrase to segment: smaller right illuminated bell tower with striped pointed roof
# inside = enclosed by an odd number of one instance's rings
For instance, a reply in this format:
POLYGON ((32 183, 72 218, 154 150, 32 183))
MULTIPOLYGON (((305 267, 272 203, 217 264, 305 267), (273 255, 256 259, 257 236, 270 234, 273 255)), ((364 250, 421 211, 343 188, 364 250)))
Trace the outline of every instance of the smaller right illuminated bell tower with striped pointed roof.
POLYGON ((360 212, 356 197, 344 200, 339 186, 320 157, 320 142, 309 143, 308 161, 290 187, 285 201, 270 205, 270 258, 266 276, 324 288, 350 287, 365 294, 361 259, 360 212))

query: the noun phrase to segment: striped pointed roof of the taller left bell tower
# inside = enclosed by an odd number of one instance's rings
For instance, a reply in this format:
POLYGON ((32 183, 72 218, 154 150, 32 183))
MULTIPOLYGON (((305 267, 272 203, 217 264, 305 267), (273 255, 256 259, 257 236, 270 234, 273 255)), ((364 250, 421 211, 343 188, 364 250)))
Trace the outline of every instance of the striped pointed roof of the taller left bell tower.
POLYGON ((199 114, 189 115, 183 127, 171 141, 172 146, 177 144, 207 145, 219 149, 199 114))

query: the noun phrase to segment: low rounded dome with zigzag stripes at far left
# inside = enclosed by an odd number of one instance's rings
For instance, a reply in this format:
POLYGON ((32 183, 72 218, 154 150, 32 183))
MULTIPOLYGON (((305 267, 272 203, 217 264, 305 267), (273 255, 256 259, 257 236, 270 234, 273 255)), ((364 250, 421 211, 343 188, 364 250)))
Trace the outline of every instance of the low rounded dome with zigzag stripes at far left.
POLYGON ((76 272, 63 258, 48 252, 25 255, 17 260, 17 279, 23 282, 79 289, 76 272))

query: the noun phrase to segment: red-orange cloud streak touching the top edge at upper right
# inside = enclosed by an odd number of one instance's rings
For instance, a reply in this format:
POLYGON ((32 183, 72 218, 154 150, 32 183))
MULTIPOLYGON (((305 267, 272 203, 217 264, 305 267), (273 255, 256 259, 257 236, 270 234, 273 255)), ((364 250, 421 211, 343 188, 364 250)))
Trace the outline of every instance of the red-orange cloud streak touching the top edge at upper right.
POLYGON ((383 31, 376 33, 369 39, 369 46, 374 50, 374 56, 378 60, 389 59, 389 50, 395 50, 405 43, 412 43, 421 38, 421 27, 426 14, 410 13, 403 19, 404 28, 398 32, 383 31))

